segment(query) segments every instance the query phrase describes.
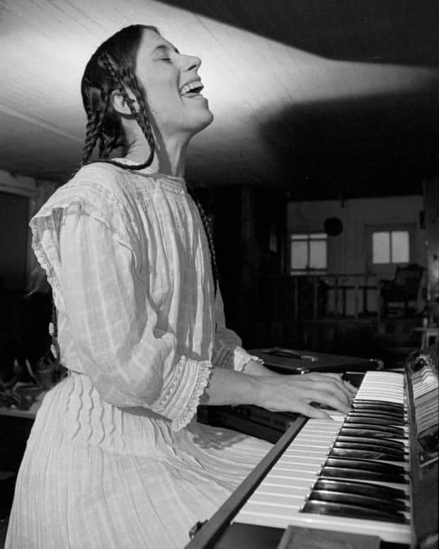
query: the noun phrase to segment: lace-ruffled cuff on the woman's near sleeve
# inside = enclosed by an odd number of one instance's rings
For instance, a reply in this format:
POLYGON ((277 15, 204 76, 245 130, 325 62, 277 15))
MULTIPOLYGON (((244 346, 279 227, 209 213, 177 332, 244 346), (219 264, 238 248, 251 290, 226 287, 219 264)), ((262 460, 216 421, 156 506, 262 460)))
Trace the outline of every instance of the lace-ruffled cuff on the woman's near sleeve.
POLYGON ((172 431, 180 431, 196 414, 211 372, 211 362, 182 356, 171 380, 166 383, 168 387, 152 405, 152 411, 171 419, 172 431))

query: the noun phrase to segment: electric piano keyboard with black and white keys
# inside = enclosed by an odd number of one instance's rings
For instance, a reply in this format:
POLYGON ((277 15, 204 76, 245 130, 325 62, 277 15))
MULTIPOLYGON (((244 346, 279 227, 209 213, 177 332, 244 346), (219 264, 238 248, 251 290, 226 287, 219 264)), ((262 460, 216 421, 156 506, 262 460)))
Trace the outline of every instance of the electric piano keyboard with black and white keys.
POLYGON ((347 415, 291 414, 186 549, 437 548, 437 351, 360 377, 347 415))

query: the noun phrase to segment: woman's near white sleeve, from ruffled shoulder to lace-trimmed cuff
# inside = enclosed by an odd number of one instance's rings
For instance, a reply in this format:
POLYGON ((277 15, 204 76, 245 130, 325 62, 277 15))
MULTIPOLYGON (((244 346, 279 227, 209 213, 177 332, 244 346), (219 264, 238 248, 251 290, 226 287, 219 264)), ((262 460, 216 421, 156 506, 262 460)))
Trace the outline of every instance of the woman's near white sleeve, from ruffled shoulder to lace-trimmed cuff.
POLYGON ((195 414, 212 363, 179 355, 176 336, 157 327, 130 237, 103 218, 81 199, 51 205, 31 222, 35 251, 103 400, 152 409, 178 431, 195 414))

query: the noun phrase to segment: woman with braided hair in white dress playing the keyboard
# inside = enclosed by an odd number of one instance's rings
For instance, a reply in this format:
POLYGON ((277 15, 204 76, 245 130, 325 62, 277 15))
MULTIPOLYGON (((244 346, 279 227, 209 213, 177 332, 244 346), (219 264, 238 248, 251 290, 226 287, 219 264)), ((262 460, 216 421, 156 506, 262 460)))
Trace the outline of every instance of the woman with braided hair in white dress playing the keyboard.
POLYGON ((201 397, 348 410, 337 375, 273 375, 224 325, 212 237, 183 179, 188 142, 212 121, 199 67, 146 26, 87 64, 83 167, 31 221, 69 375, 35 420, 8 549, 185 545, 270 448, 197 424, 201 397), (124 156, 89 163, 96 144, 124 156))

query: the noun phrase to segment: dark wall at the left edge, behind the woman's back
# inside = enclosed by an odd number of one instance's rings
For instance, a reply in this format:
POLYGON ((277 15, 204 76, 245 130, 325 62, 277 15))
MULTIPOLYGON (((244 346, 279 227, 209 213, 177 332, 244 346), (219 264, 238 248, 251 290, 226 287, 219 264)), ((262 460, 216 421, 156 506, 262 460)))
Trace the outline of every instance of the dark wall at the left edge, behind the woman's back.
POLYGON ((23 295, 36 263, 28 221, 55 187, 0 169, 0 373, 6 377, 14 358, 26 357, 33 364, 47 348, 51 304, 47 316, 47 300, 38 295, 23 300, 23 295))

